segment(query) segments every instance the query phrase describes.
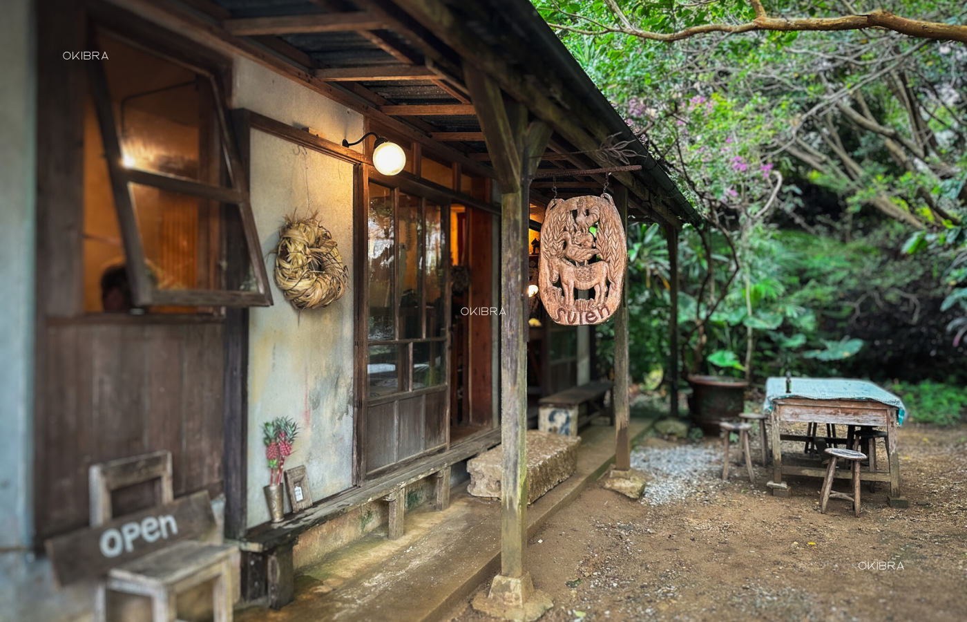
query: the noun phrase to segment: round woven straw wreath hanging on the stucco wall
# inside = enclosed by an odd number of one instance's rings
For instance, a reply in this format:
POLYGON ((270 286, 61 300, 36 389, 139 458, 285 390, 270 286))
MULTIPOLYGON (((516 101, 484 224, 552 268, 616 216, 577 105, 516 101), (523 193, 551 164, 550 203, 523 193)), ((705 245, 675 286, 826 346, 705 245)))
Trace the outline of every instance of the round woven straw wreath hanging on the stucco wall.
POLYGON ((349 279, 336 240, 315 217, 286 216, 278 230, 276 284, 299 310, 328 307, 342 296, 349 279))

